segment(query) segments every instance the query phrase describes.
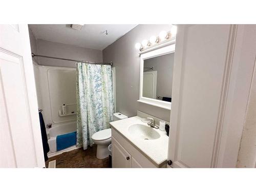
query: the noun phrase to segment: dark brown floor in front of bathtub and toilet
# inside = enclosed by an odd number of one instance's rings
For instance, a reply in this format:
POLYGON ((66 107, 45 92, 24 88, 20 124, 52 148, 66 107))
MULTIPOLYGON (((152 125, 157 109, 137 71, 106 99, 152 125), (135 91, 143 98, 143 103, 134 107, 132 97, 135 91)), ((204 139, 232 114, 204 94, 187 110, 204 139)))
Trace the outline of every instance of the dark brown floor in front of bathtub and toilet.
POLYGON ((46 161, 48 167, 49 161, 56 160, 56 168, 109 168, 109 157, 105 159, 96 158, 96 145, 87 150, 78 148, 70 152, 51 157, 46 161))

